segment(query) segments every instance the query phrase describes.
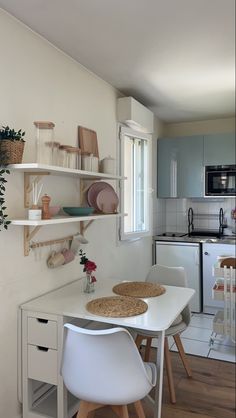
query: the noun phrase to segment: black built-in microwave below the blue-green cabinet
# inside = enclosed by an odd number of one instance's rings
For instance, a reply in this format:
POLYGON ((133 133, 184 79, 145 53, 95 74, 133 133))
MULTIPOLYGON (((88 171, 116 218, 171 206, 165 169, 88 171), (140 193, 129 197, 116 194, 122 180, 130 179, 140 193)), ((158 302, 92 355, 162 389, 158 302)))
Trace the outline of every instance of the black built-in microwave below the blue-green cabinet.
POLYGON ((236 165, 205 167, 205 196, 236 195, 236 165))

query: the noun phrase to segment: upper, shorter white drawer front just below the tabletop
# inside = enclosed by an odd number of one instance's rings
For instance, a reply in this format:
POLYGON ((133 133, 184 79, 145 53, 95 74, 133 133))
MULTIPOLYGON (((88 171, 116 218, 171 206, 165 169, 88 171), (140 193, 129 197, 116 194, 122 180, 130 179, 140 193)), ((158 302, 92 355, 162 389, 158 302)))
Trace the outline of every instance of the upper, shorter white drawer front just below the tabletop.
POLYGON ((28 344, 57 349, 57 322, 29 317, 28 344))

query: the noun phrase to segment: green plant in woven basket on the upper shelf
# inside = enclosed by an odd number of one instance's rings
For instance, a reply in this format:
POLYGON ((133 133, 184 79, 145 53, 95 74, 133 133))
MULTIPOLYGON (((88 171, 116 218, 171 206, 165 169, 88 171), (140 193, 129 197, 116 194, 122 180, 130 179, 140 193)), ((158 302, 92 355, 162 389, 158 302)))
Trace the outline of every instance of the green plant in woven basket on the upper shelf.
POLYGON ((0 128, 0 163, 19 164, 22 162, 24 152, 25 132, 21 129, 15 131, 9 126, 2 126, 0 128))

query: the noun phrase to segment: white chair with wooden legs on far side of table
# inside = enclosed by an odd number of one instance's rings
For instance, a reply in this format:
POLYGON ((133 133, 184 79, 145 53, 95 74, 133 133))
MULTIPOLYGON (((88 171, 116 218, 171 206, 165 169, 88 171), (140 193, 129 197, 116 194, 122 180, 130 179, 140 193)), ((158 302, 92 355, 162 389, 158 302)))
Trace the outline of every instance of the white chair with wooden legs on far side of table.
MULTIPOLYGON (((151 283, 160 283, 160 284, 169 285, 169 286, 178 286, 178 287, 187 286, 186 273, 183 267, 166 267, 166 266, 156 264, 151 267, 147 275, 146 281, 151 282, 151 283)), ((173 324, 165 332, 165 336, 166 336, 165 346, 164 346, 165 365, 166 365, 171 403, 176 403, 176 395, 175 395, 171 357, 170 357, 167 337, 173 336, 176 346, 178 348, 181 360, 183 362, 184 368, 187 372, 187 375, 188 377, 192 377, 192 372, 188 365, 187 357, 185 355, 184 348, 180 339, 180 333, 183 332, 187 328, 187 326, 190 323, 190 318, 191 318, 191 312, 190 312, 189 305, 187 305, 184 308, 184 310, 181 312, 181 314, 173 322, 173 324)), ((157 337, 155 335, 155 332, 144 333, 143 330, 138 331, 138 335, 135 340, 137 346, 140 347, 140 345, 142 344, 142 341, 146 340, 145 357, 144 357, 145 361, 149 360, 152 338, 155 338, 155 337, 157 337)))

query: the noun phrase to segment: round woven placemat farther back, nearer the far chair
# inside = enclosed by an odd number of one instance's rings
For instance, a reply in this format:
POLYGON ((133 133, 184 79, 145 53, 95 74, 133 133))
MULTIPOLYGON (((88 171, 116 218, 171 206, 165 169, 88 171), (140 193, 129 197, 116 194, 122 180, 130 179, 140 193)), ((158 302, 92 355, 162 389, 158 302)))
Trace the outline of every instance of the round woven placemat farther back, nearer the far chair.
POLYGON ((148 282, 124 282, 113 287, 113 292, 121 296, 135 298, 150 298, 165 293, 165 288, 157 283, 148 282))

